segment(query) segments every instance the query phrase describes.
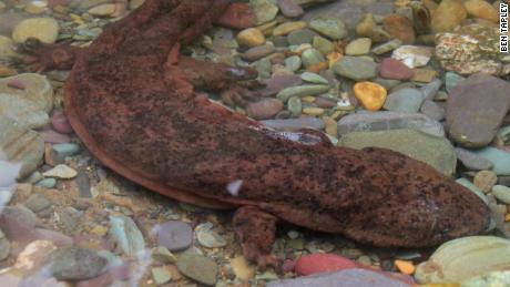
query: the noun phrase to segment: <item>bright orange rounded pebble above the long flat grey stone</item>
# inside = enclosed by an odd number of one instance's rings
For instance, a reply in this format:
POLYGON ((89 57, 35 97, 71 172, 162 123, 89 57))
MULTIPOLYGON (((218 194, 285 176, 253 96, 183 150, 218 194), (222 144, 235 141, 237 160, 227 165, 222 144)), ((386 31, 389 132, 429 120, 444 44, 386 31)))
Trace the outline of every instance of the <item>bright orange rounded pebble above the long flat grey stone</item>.
POLYGON ((358 82, 354 85, 354 94, 363 107, 379 111, 386 101, 386 89, 373 82, 358 82))

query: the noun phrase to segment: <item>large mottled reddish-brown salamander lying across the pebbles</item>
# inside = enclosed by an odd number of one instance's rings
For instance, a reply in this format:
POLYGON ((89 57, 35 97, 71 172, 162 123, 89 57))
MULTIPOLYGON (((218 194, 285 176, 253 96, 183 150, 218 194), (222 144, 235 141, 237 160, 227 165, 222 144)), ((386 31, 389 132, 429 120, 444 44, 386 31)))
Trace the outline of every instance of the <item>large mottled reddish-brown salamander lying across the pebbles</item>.
POLYGON ((196 93, 254 75, 177 59, 178 43, 227 4, 147 0, 74 57, 65 111, 99 161, 177 201, 241 207, 234 227, 261 266, 274 264, 277 219, 382 247, 432 246, 486 228, 484 203, 425 163, 335 147, 319 132, 269 131, 196 93), (238 191, 227 188, 236 181, 238 191))

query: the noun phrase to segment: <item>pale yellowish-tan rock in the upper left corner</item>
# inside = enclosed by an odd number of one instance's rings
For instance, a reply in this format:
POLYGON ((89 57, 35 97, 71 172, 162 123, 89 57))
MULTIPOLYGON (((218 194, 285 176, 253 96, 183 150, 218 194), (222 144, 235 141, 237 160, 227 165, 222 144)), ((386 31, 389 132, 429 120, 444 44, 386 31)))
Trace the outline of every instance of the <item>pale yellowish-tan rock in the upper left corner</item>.
POLYGON ((30 18, 21 21, 12 31, 12 40, 23 43, 35 38, 44 43, 54 43, 59 35, 59 23, 53 18, 30 18))

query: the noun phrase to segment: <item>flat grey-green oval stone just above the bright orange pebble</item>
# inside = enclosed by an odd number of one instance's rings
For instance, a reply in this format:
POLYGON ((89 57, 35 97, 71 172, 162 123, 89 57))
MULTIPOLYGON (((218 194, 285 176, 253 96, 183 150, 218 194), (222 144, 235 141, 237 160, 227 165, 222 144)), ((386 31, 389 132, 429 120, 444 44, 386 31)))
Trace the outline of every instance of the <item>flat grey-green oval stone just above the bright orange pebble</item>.
POLYGON ((377 64, 361 58, 344 57, 333 65, 333 71, 354 81, 365 81, 376 78, 377 64))

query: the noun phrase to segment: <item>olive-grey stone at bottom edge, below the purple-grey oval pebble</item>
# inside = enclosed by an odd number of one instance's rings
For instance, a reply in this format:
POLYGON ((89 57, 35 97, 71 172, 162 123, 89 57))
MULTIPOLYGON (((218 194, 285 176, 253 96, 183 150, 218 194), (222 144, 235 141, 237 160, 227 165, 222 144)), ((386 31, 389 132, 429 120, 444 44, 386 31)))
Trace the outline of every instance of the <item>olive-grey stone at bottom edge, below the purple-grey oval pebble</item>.
POLYGON ((217 264, 192 252, 186 252, 178 257, 177 269, 185 276, 208 286, 216 284, 217 280, 217 264))

